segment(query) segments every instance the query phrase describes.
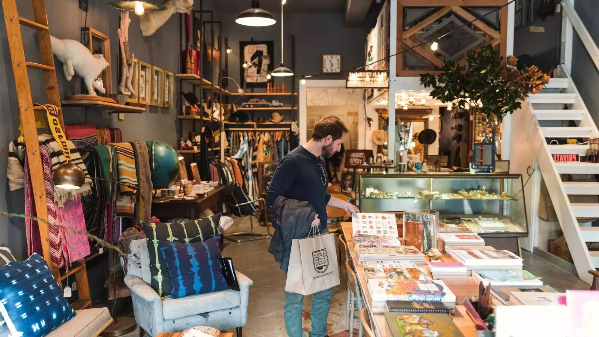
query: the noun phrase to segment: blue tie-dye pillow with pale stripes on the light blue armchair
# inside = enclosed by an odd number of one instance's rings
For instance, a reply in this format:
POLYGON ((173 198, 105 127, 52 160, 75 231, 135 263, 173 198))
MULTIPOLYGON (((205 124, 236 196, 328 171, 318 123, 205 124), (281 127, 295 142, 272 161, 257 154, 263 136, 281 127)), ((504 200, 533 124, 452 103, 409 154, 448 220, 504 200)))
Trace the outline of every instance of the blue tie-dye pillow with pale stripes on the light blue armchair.
POLYGON ((230 289, 220 272, 219 241, 220 236, 196 243, 158 240, 158 249, 167 262, 173 283, 171 297, 179 299, 230 289))

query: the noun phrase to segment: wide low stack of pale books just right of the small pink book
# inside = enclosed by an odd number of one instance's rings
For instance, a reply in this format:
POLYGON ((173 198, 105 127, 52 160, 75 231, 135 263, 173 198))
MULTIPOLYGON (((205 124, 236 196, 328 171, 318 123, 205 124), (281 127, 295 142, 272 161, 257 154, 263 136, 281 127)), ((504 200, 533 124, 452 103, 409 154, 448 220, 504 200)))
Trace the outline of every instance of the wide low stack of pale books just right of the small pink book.
POLYGON ((452 251, 451 257, 463 263, 468 270, 522 270, 522 258, 504 249, 452 251))

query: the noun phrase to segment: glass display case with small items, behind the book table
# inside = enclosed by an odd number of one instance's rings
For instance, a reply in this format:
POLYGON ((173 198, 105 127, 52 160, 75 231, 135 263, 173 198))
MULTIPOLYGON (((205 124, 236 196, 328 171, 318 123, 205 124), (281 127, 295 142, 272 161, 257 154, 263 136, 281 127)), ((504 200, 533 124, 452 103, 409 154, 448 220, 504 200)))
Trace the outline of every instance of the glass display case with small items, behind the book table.
POLYGON ((521 174, 361 173, 358 183, 361 212, 431 209, 482 237, 528 236, 521 174))

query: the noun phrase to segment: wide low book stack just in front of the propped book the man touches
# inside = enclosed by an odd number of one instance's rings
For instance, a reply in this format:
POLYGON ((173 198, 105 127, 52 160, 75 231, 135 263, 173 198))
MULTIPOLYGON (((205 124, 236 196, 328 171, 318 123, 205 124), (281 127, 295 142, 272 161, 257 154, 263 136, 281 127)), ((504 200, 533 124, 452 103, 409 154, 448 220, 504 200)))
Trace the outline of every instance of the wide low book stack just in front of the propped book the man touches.
POLYGON ((364 261, 412 261, 424 264, 424 254, 415 246, 360 245, 355 248, 358 263, 364 261))

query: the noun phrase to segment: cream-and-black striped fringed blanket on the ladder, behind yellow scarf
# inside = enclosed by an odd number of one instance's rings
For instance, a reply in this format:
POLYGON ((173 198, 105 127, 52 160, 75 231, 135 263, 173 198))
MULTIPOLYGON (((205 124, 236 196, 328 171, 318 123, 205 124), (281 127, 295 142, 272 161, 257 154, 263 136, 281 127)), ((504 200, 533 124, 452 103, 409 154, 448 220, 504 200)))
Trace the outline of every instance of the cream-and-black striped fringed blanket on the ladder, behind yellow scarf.
MULTIPOLYGON (((52 136, 49 134, 40 134, 38 135, 38 139, 40 140, 40 143, 45 144, 50 149, 52 171, 58 169, 60 165, 67 163, 65 155, 62 153, 62 149, 60 149, 60 145, 52 136)), ((79 151, 70 140, 66 140, 66 143, 71 151, 71 163, 81 167, 81 170, 83 170, 83 173, 85 174, 85 183, 79 189, 63 189, 55 187, 54 201, 59 204, 65 203, 66 200, 77 200, 81 195, 90 194, 92 192, 91 186, 93 185, 92 179, 89 177, 89 173, 87 173, 87 168, 85 167, 83 160, 81 160, 79 151)))

